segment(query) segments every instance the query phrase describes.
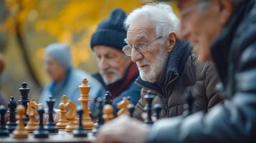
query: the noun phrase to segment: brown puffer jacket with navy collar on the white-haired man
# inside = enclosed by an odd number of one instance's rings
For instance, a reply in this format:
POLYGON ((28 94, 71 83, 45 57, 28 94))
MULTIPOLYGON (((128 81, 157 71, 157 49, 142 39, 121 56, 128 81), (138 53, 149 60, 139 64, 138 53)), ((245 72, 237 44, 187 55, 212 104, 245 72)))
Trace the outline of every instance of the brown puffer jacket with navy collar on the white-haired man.
POLYGON ((195 99, 194 112, 207 112, 215 104, 222 102, 222 97, 215 89, 219 77, 214 65, 200 62, 191 49, 188 42, 177 41, 166 60, 165 69, 156 82, 145 82, 140 77, 136 80, 136 84, 143 89, 134 117, 141 119, 143 107, 146 106, 143 98, 146 89, 156 92, 153 104, 161 104, 161 118, 174 117, 183 113, 186 103, 184 94, 188 90, 192 92, 195 99))

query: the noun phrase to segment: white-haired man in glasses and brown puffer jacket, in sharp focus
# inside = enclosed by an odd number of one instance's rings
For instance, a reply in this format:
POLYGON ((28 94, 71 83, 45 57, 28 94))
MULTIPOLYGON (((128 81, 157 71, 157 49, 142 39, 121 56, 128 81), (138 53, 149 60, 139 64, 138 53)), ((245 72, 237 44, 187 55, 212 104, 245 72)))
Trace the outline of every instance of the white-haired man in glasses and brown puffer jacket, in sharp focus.
POLYGON ((136 84, 142 87, 134 116, 141 118, 146 90, 156 93, 153 104, 161 104, 160 117, 174 117, 184 111, 184 94, 194 95, 193 110, 205 111, 222 102, 215 85, 219 81, 213 64, 199 62, 186 41, 177 39, 179 19, 166 4, 142 6, 125 20, 127 46, 139 69, 136 84))

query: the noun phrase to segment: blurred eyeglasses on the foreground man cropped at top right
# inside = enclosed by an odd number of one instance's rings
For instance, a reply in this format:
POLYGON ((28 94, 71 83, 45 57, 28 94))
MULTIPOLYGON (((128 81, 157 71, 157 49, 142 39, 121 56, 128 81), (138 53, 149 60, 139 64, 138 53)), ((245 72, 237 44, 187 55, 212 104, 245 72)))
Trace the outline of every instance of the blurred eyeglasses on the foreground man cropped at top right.
POLYGON ((180 11, 178 16, 179 17, 185 16, 186 14, 189 14, 191 11, 194 11, 194 9, 196 8, 204 9, 208 5, 209 5, 209 1, 198 1, 196 2, 196 4, 193 4, 192 6, 189 6, 188 8, 184 9, 183 11, 180 11))

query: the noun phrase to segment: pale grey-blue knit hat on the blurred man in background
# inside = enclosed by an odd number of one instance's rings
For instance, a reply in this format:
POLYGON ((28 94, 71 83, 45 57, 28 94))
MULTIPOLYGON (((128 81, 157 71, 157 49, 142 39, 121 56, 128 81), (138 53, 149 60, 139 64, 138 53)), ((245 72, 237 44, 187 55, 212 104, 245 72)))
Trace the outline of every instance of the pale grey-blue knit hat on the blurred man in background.
POLYGON ((46 47, 45 54, 52 56, 62 67, 69 69, 71 66, 70 46, 67 44, 53 43, 46 47))

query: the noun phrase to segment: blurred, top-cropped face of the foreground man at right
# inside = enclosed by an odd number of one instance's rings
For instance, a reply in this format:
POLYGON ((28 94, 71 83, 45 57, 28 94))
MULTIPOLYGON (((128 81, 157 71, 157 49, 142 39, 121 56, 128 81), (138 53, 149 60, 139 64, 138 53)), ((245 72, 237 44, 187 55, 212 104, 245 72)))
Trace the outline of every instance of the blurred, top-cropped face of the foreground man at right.
POLYGON ((181 39, 194 46, 201 61, 211 60, 210 46, 222 31, 230 16, 227 1, 179 0, 181 39))

